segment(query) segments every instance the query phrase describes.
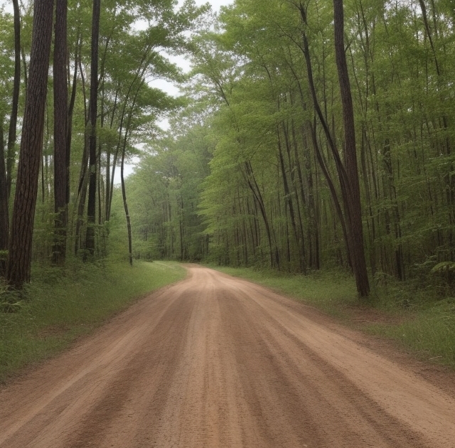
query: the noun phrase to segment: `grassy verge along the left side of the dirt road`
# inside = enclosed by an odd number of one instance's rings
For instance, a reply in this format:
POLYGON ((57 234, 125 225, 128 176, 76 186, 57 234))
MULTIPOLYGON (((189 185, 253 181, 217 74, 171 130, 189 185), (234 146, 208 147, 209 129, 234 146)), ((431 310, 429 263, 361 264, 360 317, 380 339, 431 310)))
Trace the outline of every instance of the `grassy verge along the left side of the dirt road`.
POLYGON ((22 294, 0 289, 0 383, 55 355, 138 297, 185 277, 173 262, 35 267, 22 294), (14 312, 6 312, 14 311, 14 312))

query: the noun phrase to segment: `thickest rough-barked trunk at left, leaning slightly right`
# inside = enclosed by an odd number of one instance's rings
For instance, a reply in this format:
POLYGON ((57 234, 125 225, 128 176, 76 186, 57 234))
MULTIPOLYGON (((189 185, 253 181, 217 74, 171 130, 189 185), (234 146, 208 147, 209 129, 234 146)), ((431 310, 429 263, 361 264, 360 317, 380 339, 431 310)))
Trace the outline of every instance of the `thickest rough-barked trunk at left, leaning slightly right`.
POLYGON ((30 281, 33 223, 43 151, 45 99, 48 87, 53 0, 35 0, 30 74, 23 117, 6 278, 20 288, 30 281))

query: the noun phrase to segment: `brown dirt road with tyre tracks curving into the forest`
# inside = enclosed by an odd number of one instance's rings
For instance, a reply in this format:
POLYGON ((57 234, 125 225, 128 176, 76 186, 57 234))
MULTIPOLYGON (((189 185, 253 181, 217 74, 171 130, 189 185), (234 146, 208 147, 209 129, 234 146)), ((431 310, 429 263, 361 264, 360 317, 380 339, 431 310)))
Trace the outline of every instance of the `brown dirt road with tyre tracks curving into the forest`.
POLYGON ((454 395, 361 338, 191 267, 0 390, 0 447, 455 447, 454 395))

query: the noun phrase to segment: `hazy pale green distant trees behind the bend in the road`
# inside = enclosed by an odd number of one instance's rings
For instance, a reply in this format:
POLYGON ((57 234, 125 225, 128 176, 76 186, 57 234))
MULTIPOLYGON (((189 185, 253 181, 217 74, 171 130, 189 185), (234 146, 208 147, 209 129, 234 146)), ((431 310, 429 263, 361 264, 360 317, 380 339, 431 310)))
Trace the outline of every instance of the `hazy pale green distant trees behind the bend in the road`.
MULTIPOLYGON (((145 151, 149 154, 127 179, 134 257, 201 260, 205 244, 198 204, 209 157, 204 130, 194 127, 181 139, 156 139, 145 151)), ((114 192, 112 219, 126 225, 118 193, 114 192)), ((122 238, 116 230, 109 235, 117 246, 122 238)))

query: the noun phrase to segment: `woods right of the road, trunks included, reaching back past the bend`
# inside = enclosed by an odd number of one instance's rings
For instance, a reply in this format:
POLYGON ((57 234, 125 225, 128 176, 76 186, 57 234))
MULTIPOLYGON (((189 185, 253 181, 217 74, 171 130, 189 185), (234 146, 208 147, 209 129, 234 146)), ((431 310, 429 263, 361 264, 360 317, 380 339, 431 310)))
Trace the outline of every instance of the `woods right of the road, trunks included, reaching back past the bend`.
POLYGON ((133 193, 137 256, 338 266, 360 297, 368 276, 451 284, 453 5, 343 3, 235 1, 198 31, 191 107, 128 179, 153 196, 133 193), (208 173, 193 215, 185 157, 208 173))

